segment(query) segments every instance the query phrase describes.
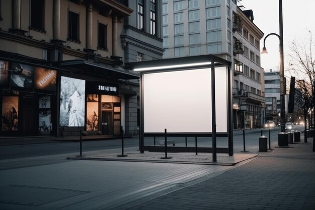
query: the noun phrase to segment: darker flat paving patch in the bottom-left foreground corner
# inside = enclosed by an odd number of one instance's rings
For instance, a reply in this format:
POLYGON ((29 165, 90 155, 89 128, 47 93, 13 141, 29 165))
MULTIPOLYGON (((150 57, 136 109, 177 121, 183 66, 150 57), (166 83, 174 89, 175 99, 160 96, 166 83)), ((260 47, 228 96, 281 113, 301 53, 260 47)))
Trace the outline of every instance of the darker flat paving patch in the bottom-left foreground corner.
POLYGON ((0 186, 0 203, 39 206, 89 192, 90 191, 10 184, 0 186))

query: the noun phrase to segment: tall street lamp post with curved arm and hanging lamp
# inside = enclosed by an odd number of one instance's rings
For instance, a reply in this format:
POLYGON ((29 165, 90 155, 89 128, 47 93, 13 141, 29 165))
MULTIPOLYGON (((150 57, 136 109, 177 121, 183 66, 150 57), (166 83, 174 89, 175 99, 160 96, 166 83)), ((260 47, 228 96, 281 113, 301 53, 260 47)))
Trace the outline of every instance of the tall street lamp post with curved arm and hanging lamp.
POLYGON ((286 146, 282 145, 283 141, 288 142, 287 139, 287 134, 285 133, 285 101, 284 101, 284 96, 286 93, 285 90, 285 78, 284 78, 284 62, 283 62, 283 21, 282 21, 282 0, 279 0, 279 35, 276 33, 270 33, 268 34, 265 39, 264 39, 264 47, 263 47, 263 51, 261 52, 262 54, 264 53, 268 53, 266 46, 265 46, 265 41, 266 38, 270 35, 276 35, 279 40, 280 40, 280 113, 281 113, 281 118, 280 118, 280 126, 281 126, 281 132, 278 135, 278 142, 279 142, 279 146, 286 146))

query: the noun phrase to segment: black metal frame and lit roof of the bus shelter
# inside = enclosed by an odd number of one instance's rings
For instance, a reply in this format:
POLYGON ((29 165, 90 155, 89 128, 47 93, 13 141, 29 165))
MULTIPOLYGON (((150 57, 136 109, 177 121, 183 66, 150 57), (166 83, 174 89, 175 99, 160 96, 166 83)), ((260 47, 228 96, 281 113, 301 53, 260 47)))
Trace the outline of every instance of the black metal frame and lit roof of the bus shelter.
POLYGON ((144 133, 143 109, 143 75, 149 73, 163 73, 184 71, 188 69, 211 68, 211 102, 212 102, 212 132, 207 133, 168 133, 168 136, 212 136, 213 161, 216 161, 216 136, 226 136, 226 133, 216 132, 215 116, 215 67, 227 67, 227 137, 228 154, 233 155, 233 125, 232 123, 232 70, 231 62, 215 55, 200 55, 163 60, 126 63, 126 67, 140 74, 140 133, 139 150, 144 153, 144 136, 163 136, 163 133, 144 133))

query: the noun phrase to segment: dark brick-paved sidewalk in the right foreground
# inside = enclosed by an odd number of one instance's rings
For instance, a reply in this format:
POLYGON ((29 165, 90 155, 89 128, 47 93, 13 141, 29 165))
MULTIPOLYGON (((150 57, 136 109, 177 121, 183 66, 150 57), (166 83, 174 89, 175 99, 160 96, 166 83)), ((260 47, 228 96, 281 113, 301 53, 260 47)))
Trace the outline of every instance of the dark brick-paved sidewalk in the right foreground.
POLYGON ((199 184, 128 208, 315 209, 315 153, 312 143, 275 148, 199 184))

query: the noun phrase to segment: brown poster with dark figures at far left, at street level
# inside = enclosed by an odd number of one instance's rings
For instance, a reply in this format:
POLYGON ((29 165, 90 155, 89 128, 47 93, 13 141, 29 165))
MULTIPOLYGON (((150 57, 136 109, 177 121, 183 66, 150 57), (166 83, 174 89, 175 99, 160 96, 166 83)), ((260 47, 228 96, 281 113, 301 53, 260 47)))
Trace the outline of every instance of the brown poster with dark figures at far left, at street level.
POLYGON ((2 100, 2 130, 18 130, 19 97, 4 96, 2 100))

